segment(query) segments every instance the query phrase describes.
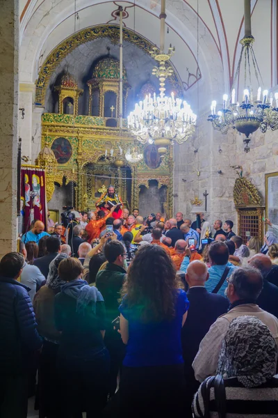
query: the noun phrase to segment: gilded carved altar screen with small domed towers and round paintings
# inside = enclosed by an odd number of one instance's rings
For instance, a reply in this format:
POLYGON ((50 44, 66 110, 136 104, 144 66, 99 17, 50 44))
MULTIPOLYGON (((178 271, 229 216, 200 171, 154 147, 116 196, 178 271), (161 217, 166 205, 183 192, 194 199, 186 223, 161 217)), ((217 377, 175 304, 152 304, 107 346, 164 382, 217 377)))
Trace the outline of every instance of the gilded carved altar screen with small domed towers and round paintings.
MULTIPOLYGON (((60 79, 58 113, 42 114, 42 151, 38 164, 46 169, 50 210, 71 205, 94 210, 101 193, 113 185, 124 206, 146 216, 160 211, 172 216, 172 147, 161 158, 154 144, 140 144, 119 126, 119 61, 109 54, 99 60, 88 80, 88 115, 79 115, 83 90, 69 72, 60 79), (108 94, 109 93, 109 94, 108 94), (108 109, 111 116, 108 117, 108 109), (136 147, 140 162, 126 160, 136 147)), ((129 86, 124 70, 124 117, 129 86)), ((152 88, 142 86, 142 94, 152 88)))

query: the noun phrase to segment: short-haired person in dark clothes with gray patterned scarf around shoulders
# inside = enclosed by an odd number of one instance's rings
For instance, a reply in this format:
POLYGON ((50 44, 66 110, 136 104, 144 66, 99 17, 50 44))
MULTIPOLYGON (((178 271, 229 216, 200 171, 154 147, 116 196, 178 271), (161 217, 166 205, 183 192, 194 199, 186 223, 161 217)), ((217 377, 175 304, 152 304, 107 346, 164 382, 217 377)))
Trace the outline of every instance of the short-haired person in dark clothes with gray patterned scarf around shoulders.
POLYGON ((83 265, 76 258, 63 260, 58 274, 66 284, 55 297, 55 321, 60 331, 60 371, 63 417, 99 418, 106 405, 110 371, 104 345, 104 298, 82 279, 83 265))

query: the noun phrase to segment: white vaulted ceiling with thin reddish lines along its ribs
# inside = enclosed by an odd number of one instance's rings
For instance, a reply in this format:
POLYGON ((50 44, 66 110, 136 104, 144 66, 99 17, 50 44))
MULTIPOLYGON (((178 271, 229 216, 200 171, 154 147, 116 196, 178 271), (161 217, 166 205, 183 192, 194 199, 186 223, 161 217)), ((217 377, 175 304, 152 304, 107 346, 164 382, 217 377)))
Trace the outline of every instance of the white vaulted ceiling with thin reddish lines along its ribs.
MULTIPOLYGON (((273 0, 252 0, 254 49, 263 78, 272 74, 273 0), (270 40, 271 39, 271 40, 270 40)), ((115 24, 115 10, 124 8, 124 25, 159 45, 160 0, 19 0, 21 82, 35 82, 44 60, 74 32, 97 24, 115 24), (78 13, 78 15, 75 14, 78 13), (78 18, 76 18, 76 16, 78 18)), ((228 89, 243 37, 243 0, 167 0, 165 47, 174 45, 172 64, 188 95, 196 90, 197 38, 200 86, 207 97, 228 89)), ((275 45, 276 46, 276 45, 275 45)), ((199 84, 198 83, 198 84, 199 84)))

